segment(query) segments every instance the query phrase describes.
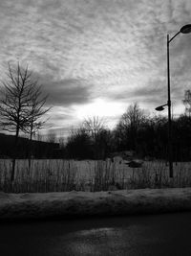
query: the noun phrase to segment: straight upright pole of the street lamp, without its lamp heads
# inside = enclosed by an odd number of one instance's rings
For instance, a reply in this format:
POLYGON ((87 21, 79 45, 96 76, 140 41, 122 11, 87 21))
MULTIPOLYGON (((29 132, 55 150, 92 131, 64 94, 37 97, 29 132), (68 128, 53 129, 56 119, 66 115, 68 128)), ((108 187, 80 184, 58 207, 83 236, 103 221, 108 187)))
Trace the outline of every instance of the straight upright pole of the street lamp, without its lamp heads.
POLYGON ((172 161, 172 122, 171 122, 171 97, 170 97, 170 57, 169 57, 169 35, 167 35, 167 85, 168 85, 168 161, 169 175, 173 177, 173 161, 172 161))

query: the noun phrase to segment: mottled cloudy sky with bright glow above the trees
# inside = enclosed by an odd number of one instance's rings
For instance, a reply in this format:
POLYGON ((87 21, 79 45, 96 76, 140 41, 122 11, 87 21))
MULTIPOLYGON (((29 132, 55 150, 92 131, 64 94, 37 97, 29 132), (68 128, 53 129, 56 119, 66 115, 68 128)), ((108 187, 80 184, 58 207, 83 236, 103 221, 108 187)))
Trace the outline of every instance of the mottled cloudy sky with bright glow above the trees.
MULTIPOLYGON (((29 65, 57 132, 91 116, 112 128, 134 103, 155 114, 167 101, 166 36, 191 23, 190 0, 1 0, 0 11, 0 80, 8 63, 29 65)), ((170 43, 175 115, 191 89, 190 45, 191 34, 170 43)))

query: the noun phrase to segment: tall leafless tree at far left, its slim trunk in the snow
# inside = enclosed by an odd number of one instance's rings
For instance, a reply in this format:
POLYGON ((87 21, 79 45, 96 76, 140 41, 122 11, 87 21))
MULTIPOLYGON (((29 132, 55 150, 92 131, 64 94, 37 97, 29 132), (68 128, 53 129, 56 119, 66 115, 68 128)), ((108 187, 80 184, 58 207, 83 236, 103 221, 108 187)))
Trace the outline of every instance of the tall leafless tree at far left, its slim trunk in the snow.
POLYGON ((0 99, 0 124, 4 130, 15 134, 11 172, 11 181, 13 181, 18 136, 28 122, 27 109, 35 81, 32 81, 32 73, 29 72, 28 66, 22 69, 19 63, 14 69, 9 64, 7 76, 8 80, 2 82, 4 89, 0 99))

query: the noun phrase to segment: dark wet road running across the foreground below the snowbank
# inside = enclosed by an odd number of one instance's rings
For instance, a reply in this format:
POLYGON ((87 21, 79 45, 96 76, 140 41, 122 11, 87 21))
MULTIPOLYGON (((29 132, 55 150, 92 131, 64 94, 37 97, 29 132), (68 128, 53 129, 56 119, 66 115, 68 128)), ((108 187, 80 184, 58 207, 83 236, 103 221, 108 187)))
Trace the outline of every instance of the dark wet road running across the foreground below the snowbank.
POLYGON ((191 213, 0 224, 2 256, 191 255, 191 213))

